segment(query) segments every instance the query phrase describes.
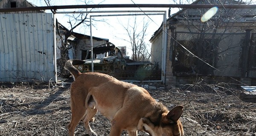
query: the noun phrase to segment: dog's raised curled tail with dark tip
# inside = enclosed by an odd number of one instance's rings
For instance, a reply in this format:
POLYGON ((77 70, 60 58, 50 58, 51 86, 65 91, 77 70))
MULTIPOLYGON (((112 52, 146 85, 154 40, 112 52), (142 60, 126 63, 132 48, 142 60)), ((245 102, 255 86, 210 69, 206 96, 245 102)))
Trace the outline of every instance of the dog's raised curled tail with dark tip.
POLYGON ((70 59, 65 63, 64 68, 70 71, 70 73, 75 77, 75 79, 81 74, 81 72, 74 67, 74 65, 82 65, 84 64, 83 60, 79 59, 70 59))

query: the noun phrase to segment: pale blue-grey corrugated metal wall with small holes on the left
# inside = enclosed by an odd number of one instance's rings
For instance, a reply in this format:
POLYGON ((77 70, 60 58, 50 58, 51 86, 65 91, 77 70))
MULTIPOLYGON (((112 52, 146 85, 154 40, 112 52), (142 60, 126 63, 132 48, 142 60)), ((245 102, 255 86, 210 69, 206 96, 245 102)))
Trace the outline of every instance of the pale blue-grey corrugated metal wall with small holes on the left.
POLYGON ((52 14, 0 14, 0 82, 54 77, 52 14))

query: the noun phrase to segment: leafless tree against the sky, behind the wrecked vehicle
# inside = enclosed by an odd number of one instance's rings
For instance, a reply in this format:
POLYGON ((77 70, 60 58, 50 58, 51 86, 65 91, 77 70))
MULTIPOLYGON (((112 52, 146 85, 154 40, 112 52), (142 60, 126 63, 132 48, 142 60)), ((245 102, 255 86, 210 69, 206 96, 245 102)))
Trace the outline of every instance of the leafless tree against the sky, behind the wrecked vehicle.
POLYGON ((145 42, 146 31, 149 25, 149 21, 143 18, 143 24, 138 25, 137 17, 134 17, 134 22, 128 21, 127 25, 122 27, 128 34, 129 39, 123 39, 131 43, 132 59, 137 61, 150 60, 151 54, 149 51, 149 45, 145 42))

